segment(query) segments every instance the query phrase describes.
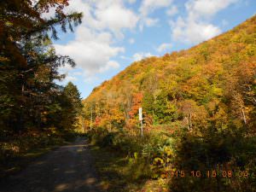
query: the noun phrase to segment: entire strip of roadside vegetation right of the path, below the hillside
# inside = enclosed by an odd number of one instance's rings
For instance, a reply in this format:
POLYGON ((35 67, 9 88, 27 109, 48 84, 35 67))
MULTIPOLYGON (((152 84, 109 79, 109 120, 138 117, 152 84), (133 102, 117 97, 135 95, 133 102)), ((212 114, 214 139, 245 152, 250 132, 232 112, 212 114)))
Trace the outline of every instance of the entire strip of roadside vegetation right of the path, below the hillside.
POLYGON ((108 191, 254 191, 255 137, 246 130, 201 134, 97 129, 88 138, 108 191))

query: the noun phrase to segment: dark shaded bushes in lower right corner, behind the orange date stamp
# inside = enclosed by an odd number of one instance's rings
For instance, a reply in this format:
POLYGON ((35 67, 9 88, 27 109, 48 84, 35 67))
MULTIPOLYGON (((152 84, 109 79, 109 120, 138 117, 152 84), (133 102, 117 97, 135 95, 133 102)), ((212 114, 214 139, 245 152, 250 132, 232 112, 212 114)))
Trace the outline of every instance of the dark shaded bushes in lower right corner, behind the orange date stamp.
POLYGON ((247 129, 218 131, 210 127, 201 137, 183 131, 176 137, 175 155, 174 166, 188 175, 172 177, 172 191, 256 191, 256 140, 247 129), (192 177, 192 171, 204 175, 192 177), (207 171, 217 172, 217 176, 209 178, 207 171), (248 176, 239 177, 240 171, 248 176), (232 172, 232 176, 223 177, 223 172, 232 172))

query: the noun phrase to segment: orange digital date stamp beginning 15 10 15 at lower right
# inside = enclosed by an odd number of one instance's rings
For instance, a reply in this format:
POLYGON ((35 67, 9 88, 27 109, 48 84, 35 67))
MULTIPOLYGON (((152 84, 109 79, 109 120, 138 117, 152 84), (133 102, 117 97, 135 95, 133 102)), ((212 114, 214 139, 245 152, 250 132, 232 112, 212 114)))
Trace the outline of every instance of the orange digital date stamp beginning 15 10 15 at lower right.
POLYGON ((170 171, 166 172, 166 177, 208 177, 208 178, 214 178, 214 177, 254 177, 253 172, 247 172, 247 171, 231 171, 231 170, 222 170, 218 172, 216 170, 209 170, 209 171, 190 171, 185 172, 183 170, 180 171, 170 171))

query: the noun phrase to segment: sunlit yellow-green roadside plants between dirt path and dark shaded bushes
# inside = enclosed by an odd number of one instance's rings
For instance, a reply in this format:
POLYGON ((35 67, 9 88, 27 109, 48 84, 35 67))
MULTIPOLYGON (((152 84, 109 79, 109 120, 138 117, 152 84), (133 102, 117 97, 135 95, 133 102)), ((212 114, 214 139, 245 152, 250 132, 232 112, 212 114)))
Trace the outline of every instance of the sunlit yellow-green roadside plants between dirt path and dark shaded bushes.
POLYGON ((168 191, 166 180, 163 186, 154 180, 168 169, 170 163, 168 137, 152 137, 148 133, 144 137, 139 134, 128 136, 126 132, 108 132, 105 129, 90 131, 87 137, 104 189, 168 191))

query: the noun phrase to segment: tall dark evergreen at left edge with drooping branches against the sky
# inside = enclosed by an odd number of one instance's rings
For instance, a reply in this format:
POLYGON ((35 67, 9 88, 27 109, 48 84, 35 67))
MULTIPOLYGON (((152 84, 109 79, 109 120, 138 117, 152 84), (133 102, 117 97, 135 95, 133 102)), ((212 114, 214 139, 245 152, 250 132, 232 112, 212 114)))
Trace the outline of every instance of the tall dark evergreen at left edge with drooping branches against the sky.
POLYGON ((67 32, 67 26, 73 31, 73 25, 81 22, 81 14, 63 12, 67 5, 68 1, 57 0, 0 2, 1 133, 44 128, 50 124, 48 114, 60 110, 55 99, 62 90, 55 80, 65 76, 58 73, 58 67, 75 63, 55 54, 49 33, 57 39, 55 26, 67 32), (55 17, 44 18, 53 8, 55 17))

